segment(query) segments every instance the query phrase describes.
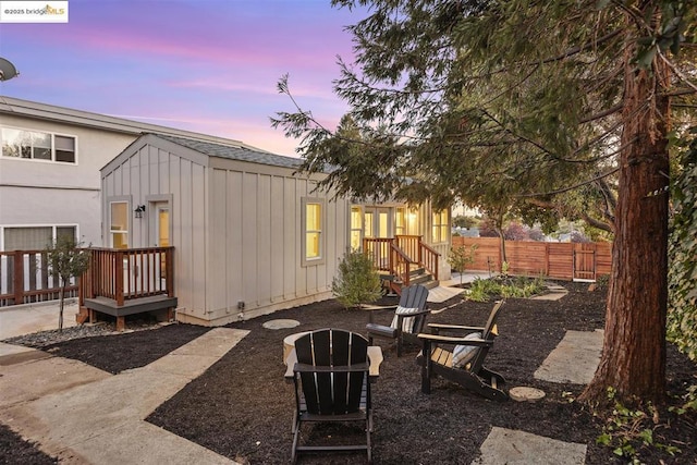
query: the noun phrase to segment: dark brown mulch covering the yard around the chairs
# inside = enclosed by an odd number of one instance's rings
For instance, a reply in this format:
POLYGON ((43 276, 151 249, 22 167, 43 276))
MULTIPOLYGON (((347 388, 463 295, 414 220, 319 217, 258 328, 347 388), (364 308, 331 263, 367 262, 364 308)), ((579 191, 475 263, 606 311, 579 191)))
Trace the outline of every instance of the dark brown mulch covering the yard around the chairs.
MULTIPOLYGON (((608 448, 596 445, 602 420, 587 408, 570 402, 582 387, 534 379, 533 374, 561 341, 566 330, 592 331, 603 328, 603 292, 588 292, 587 284, 562 283, 571 293, 561 301, 509 299, 498 327, 500 336, 487 357, 487 365, 503 374, 508 387, 527 386, 543 390, 537 403, 497 403, 464 391, 456 384, 437 380, 430 395, 419 390, 418 351, 407 346, 398 358, 394 347, 378 341, 384 362, 374 386, 374 460, 381 464, 469 464, 492 426, 519 429, 563 441, 585 443, 586 463, 622 463, 608 448)), ((383 299, 383 304, 395 301, 383 299)), ((457 301, 431 304, 442 308, 457 301)), ((462 302, 432 315, 431 321, 482 325, 490 303, 462 302)), ((376 322, 389 323, 391 311, 374 311, 376 322)), ((290 457, 291 419, 294 408, 292 386, 283 380, 282 341, 286 335, 311 329, 334 327, 364 332, 367 315, 347 310, 334 301, 306 305, 249 321, 231 325, 249 330, 237 346, 171 400, 158 407, 148 421, 188 438, 242 463, 285 463, 290 457), (265 321, 291 318, 301 326, 269 330, 265 321)), ((205 332, 206 329, 174 325, 152 331, 68 341, 51 348, 56 355, 77 358, 110 372, 147 365, 205 332)), ((687 357, 669 347, 668 384, 673 395, 684 394, 695 383, 697 368, 687 357)), ((678 401, 671 401, 677 405, 678 401)), ((658 448, 643 448, 645 463, 697 463, 695 415, 661 409, 656 441, 676 445, 676 457, 658 448)), ((313 435, 339 436, 345 431, 316 427, 313 435)), ((32 444, 0 427, 0 463, 52 463, 32 444), (46 462, 41 462, 46 460, 46 462)), ((302 463, 356 463, 360 455, 306 456, 302 463)))

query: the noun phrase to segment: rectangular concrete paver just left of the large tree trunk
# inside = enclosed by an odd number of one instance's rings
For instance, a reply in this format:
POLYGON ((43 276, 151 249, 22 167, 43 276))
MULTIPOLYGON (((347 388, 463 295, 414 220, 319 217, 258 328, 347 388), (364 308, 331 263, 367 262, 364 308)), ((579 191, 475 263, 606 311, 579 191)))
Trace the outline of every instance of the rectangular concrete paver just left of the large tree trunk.
POLYGON ((603 333, 602 330, 566 331, 534 377, 542 381, 588 384, 600 363, 603 333))

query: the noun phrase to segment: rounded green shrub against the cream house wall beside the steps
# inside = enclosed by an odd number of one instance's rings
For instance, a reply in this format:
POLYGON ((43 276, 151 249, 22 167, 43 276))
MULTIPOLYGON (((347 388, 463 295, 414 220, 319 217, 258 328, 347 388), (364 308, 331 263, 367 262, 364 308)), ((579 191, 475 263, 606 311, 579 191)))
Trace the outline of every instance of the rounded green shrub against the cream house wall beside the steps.
POLYGON ((372 260, 363 252, 347 252, 339 262, 331 291, 346 308, 360 308, 363 304, 380 298, 382 286, 372 260))

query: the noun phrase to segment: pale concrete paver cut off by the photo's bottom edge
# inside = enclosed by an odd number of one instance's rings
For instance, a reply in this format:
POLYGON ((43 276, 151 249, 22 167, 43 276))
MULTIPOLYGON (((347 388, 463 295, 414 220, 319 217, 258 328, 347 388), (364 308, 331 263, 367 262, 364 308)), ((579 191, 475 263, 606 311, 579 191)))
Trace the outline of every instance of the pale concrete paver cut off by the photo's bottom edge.
POLYGON ((586 444, 493 427, 472 465, 584 465, 586 444))

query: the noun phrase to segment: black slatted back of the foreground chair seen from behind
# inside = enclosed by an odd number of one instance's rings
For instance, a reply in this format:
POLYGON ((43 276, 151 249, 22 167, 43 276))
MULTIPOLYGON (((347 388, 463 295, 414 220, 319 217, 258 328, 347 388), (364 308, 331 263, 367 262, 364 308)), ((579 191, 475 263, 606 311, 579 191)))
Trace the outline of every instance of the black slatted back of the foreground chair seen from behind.
POLYGON ((368 341, 364 336, 340 329, 311 331, 295 341, 295 353, 299 364, 330 368, 328 371, 299 374, 309 413, 341 415, 358 412, 367 372, 331 368, 365 365, 368 341))

